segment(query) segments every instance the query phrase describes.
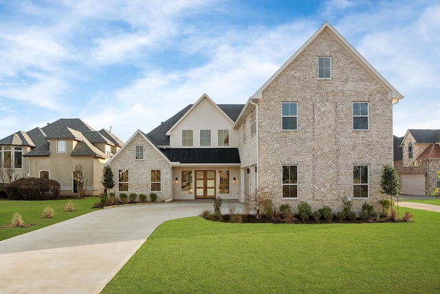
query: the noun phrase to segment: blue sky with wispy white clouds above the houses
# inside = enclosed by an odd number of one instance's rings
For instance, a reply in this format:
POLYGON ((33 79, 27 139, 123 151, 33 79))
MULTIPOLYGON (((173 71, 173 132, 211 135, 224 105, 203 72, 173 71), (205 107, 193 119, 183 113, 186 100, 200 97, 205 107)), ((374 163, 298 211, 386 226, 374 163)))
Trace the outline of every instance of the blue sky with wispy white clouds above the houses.
POLYGON ((80 118, 126 141, 204 93, 245 104, 325 21, 405 96, 396 136, 440 129, 439 0, 0 0, 0 139, 80 118))

